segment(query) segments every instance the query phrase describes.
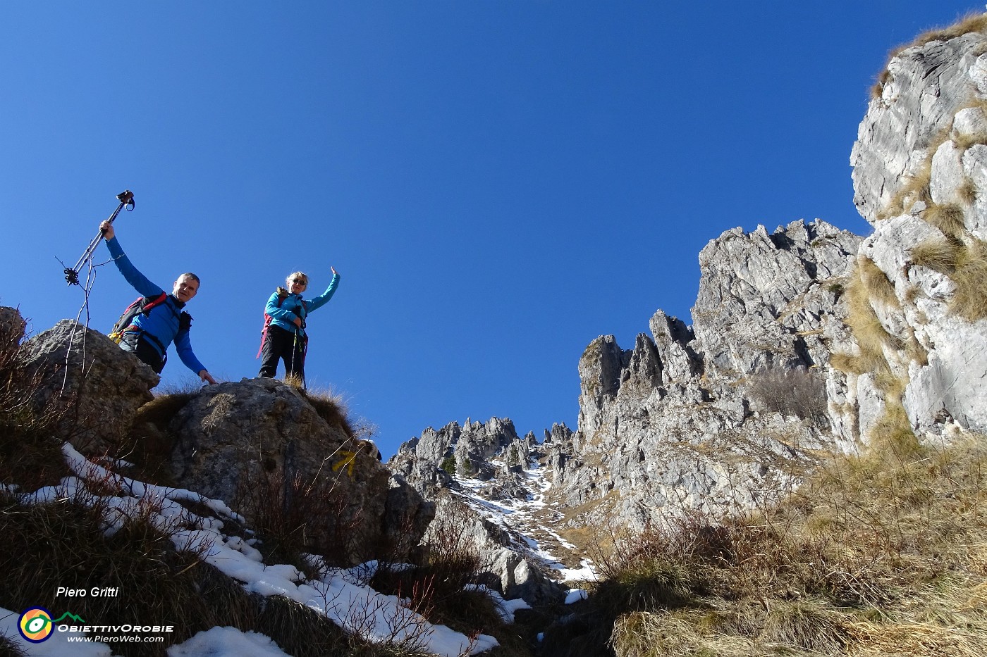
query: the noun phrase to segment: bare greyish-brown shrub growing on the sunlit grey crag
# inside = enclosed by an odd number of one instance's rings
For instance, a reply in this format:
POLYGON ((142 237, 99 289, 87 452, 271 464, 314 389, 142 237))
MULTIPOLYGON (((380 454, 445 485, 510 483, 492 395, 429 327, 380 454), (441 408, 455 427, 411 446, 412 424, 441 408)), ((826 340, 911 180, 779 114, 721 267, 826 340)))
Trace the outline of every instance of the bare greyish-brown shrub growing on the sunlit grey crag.
POLYGON ((771 412, 826 426, 826 385, 809 370, 762 370, 750 378, 751 397, 771 412))

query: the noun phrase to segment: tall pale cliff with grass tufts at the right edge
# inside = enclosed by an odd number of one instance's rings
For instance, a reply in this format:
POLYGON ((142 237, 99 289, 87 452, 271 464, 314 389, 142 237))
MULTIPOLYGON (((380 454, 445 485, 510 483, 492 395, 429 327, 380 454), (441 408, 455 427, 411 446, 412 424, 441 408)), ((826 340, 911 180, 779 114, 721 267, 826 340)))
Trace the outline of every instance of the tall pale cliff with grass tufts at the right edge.
POLYGON ((879 328, 854 353, 881 356, 851 377, 862 426, 900 403, 919 434, 987 431, 985 50, 981 32, 905 48, 860 126, 854 198, 873 235, 858 314, 879 328))

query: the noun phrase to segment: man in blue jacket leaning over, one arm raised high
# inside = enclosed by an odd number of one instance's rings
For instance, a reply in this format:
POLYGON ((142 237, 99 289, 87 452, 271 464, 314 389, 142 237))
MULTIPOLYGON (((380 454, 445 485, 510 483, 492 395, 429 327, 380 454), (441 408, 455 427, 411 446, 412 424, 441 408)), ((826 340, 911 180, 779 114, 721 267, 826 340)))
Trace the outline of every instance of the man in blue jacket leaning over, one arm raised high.
MULTIPOLYGON (((107 241, 110 255, 113 255, 116 268, 123 274, 126 282, 130 283, 137 292, 145 297, 158 297, 163 289, 152 283, 144 274, 130 262, 123 253, 119 242, 116 241, 114 226, 109 221, 100 224, 100 231, 107 241)), ((120 348, 130 351, 141 361, 147 363, 155 372, 161 374, 168 360, 168 345, 173 341, 179 352, 179 358, 199 379, 210 384, 216 383, 205 366, 195 357, 191 350, 189 328, 191 317, 182 309, 198 292, 198 276, 184 273, 175 281, 172 293, 165 297, 163 303, 155 305, 146 314, 134 316, 120 338, 120 348)))

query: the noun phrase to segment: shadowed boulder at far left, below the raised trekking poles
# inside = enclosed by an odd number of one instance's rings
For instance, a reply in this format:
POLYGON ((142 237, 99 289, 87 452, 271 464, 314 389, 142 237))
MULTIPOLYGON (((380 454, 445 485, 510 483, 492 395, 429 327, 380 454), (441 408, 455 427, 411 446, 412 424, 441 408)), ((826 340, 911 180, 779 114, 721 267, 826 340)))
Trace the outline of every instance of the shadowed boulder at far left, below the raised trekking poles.
POLYGON ((71 401, 63 432, 87 454, 105 454, 126 435, 160 378, 107 335, 71 320, 27 339, 19 360, 37 377, 38 406, 71 401))

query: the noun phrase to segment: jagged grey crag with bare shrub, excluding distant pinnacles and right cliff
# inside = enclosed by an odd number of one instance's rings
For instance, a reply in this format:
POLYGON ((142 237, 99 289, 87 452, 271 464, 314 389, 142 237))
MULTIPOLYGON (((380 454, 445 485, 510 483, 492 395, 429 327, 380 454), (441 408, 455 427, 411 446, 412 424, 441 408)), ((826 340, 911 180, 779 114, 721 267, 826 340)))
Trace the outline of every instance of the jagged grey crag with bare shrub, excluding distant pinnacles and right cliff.
POLYGON ((700 255, 691 328, 658 311, 632 349, 612 335, 590 343, 578 431, 552 448, 550 499, 590 507, 569 524, 640 528, 752 506, 791 488, 812 449, 849 449, 832 437, 823 387, 859 244, 821 221, 727 231, 700 255), (780 379, 788 405, 765 390, 780 379))

